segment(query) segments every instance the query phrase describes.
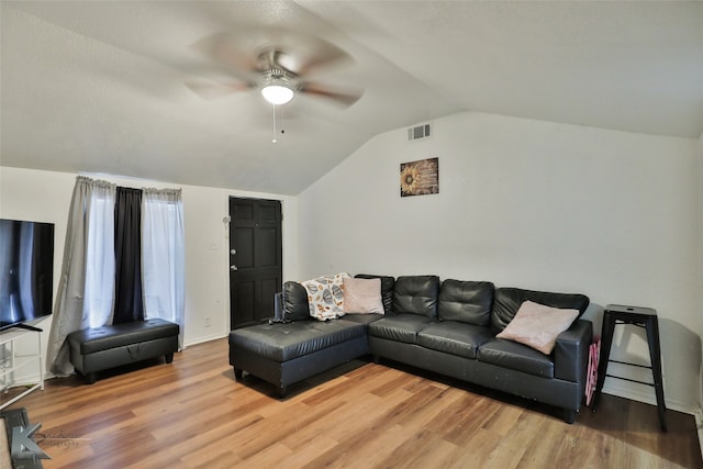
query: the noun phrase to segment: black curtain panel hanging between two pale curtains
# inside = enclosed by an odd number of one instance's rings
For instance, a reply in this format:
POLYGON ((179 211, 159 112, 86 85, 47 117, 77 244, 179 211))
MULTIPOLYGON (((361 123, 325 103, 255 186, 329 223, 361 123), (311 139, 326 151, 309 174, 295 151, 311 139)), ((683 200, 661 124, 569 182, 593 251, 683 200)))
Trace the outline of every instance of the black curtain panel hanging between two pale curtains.
POLYGON ((114 204, 113 324, 144 321, 142 297, 142 190, 118 187, 114 204))

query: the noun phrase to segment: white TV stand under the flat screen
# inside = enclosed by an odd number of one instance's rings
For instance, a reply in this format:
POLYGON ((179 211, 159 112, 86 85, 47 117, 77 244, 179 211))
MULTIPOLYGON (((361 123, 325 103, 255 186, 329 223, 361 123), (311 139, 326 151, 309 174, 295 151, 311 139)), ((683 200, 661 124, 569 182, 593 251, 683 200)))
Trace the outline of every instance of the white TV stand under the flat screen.
POLYGON ((30 382, 27 384, 27 389, 22 391, 20 394, 7 402, 0 403, 0 410, 24 398, 36 389, 44 389, 44 360, 42 354, 42 335, 40 334, 42 330, 26 324, 19 324, 15 327, 16 328, 12 331, 5 330, 0 332, 0 388, 4 393, 7 393, 11 387, 19 386, 19 383, 15 382, 15 371, 31 365, 38 368, 38 380, 30 382), (38 351, 36 354, 18 355, 15 350, 15 342, 19 338, 33 333, 36 334, 38 351))

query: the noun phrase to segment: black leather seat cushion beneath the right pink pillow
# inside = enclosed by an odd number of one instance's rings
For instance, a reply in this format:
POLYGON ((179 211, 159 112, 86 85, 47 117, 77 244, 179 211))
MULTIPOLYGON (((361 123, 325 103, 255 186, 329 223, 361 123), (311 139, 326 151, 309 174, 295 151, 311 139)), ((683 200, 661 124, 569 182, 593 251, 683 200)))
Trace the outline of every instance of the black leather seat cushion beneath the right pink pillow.
POLYGON ((543 378, 554 378, 554 361, 548 355, 516 342, 494 338, 479 347, 479 361, 523 371, 543 378))

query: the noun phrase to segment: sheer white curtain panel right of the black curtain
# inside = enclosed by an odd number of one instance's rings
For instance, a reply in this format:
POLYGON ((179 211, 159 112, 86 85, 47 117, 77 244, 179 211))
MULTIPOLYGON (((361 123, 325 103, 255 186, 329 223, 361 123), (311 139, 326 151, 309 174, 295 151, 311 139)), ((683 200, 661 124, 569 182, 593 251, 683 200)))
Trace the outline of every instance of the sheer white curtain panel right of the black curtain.
POLYGON ((145 319, 177 323, 183 348, 186 323, 183 203, 180 189, 144 189, 142 276, 145 319))

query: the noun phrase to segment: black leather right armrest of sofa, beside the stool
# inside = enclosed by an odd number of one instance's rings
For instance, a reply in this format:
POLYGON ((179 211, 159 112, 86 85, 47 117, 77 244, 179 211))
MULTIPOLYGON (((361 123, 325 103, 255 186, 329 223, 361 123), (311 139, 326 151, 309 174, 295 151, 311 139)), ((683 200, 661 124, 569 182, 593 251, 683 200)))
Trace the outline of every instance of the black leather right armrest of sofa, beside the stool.
POLYGON ((589 347, 593 342, 593 324, 577 320, 559 334, 554 347, 554 377, 585 386, 589 347))

